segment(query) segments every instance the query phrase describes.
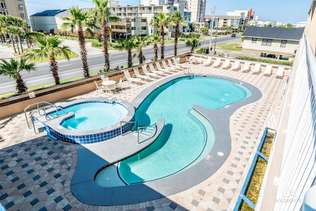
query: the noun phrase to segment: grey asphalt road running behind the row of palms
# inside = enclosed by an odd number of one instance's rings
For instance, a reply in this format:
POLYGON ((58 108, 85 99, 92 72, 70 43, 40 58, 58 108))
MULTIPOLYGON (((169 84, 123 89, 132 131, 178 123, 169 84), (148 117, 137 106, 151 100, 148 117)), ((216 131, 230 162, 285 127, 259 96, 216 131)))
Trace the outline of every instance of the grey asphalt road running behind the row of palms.
MULTIPOLYGON (((218 38, 216 44, 224 42, 232 42, 239 40, 240 36, 236 38, 231 37, 222 37, 218 38)), ((212 38, 212 45, 214 44, 215 39, 212 38)), ((202 40, 200 47, 209 46, 209 39, 202 40)), ((160 46, 158 46, 158 56, 160 55, 160 46)), ((178 43, 178 54, 181 52, 189 51, 190 48, 185 46, 184 42, 178 43)), ((132 54, 136 51, 133 50, 132 54)), ((147 61, 154 57, 153 45, 143 48, 143 53, 147 61)), ((174 44, 166 44, 164 50, 164 56, 170 57, 174 54, 174 44)), ((133 59, 133 63, 138 62, 138 59, 133 59)), ((117 66, 122 66, 127 64, 127 52, 126 51, 110 51, 110 68, 117 66)), ((104 68, 104 56, 102 53, 98 53, 92 56, 88 56, 88 65, 89 71, 91 73, 99 72, 104 68)), ((76 58, 67 60, 58 60, 58 74, 60 81, 72 79, 83 75, 82 71, 82 62, 80 56, 76 58)), ((27 87, 34 87, 41 84, 54 83, 54 79, 49 71, 48 62, 39 63, 36 65, 37 71, 32 71, 30 73, 23 72, 22 77, 27 87)), ((15 91, 15 80, 9 79, 8 77, 0 77, 0 94, 15 91)))

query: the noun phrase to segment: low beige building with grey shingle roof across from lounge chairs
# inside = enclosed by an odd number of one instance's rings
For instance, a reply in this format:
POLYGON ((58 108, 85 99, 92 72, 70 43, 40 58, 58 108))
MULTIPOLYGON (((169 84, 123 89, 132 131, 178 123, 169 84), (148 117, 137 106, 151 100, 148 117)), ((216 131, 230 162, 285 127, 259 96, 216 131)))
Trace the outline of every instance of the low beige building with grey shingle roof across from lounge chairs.
POLYGON ((242 54, 272 58, 294 56, 303 32, 304 28, 248 27, 242 34, 242 54))

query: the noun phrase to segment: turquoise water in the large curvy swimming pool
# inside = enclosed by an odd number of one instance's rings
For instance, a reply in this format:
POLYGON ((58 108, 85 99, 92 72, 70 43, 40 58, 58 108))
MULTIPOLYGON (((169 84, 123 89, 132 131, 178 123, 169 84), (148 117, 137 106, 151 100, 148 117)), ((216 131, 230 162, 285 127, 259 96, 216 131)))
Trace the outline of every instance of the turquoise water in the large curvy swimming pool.
POLYGON ((215 134, 208 131, 206 139, 205 128, 189 113, 192 106, 218 109, 245 98, 247 94, 251 92, 245 86, 209 77, 180 78, 153 91, 137 109, 135 120, 139 126, 149 126, 164 119, 165 126, 150 147, 120 162, 122 180, 128 184, 156 180, 202 159, 199 157, 203 150, 211 150, 215 134), (206 140, 211 143, 206 144, 206 140))

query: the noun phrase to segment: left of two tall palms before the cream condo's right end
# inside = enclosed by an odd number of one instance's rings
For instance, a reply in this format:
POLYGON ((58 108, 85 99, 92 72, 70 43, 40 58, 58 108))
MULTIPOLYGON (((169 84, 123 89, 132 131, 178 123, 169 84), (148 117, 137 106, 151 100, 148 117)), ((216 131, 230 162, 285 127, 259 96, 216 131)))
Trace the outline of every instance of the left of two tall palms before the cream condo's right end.
POLYGON ((166 13, 159 12, 158 16, 154 16, 153 20, 150 22, 151 26, 159 28, 159 33, 161 36, 160 42, 160 58, 164 58, 164 28, 167 27, 170 23, 169 17, 167 17, 166 13))

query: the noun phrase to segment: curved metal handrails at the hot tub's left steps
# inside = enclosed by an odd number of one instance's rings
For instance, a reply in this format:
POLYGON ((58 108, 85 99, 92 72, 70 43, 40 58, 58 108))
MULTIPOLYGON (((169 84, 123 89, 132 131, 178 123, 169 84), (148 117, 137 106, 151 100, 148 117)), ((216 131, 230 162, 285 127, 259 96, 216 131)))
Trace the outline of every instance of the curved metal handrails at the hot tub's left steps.
POLYGON ((33 115, 38 112, 39 113, 39 117, 40 116, 44 116, 46 120, 48 119, 51 119, 50 117, 47 116, 46 114, 46 110, 48 108, 55 108, 56 109, 56 112, 58 112, 59 110, 62 110, 63 111, 63 114, 65 114, 65 111, 63 108, 60 108, 58 106, 56 106, 55 104, 52 104, 52 103, 49 103, 49 102, 46 102, 46 101, 40 101, 40 102, 37 102, 37 103, 33 103, 33 104, 30 104, 28 105, 25 109, 24 109, 24 114, 25 114, 25 119, 26 119, 26 122, 28 124, 28 127, 29 129, 31 129, 32 127, 34 128, 34 132, 36 132, 36 128, 35 128, 35 125, 34 125, 34 118, 33 118, 33 115), (42 106, 40 106, 40 104, 43 104, 42 106), (32 109, 34 108, 34 106, 36 105, 36 109, 30 114, 30 116, 28 117, 28 115, 26 114, 27 113, 27 110, 32 107, 32 109), (41 111, 43 111, 44 113, 42 113, 41 111), (31 122, 29 122, 29 118, 31 119, 31 122))

